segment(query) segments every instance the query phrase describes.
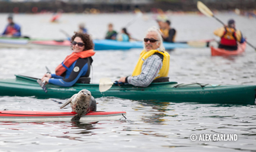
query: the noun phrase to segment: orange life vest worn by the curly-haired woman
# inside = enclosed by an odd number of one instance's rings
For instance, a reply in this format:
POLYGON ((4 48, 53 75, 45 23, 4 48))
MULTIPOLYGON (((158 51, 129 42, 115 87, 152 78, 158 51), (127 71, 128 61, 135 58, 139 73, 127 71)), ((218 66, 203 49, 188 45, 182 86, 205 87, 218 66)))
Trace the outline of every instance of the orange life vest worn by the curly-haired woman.
POLYGON ((79 58, 84 59, 87 57, 94 56, 94 54, 95 54, 94 50, 86 50, 86 51, 81 51, 79 53, 73 52, 72 54, 67 56, 65 60, 61 64, 59 64, 59 66, 56 67, 55 69, 56 75, 61 76, 63 73, 66 72, 67 70, 66 67, 70 67, 79 58))

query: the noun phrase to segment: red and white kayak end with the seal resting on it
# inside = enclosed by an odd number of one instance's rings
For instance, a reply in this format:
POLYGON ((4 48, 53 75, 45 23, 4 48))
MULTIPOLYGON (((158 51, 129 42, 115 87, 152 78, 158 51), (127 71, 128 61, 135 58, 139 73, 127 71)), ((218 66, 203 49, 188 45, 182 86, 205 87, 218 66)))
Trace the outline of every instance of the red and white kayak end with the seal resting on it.
MULTIPOLYGON (((52 111, 0 111, 0 121, 12 122, 46 122, 46 121, 71 121, 76 112, 52 111)), ((126 112, 89 112, 81 117, 80 121, 116 120, 125 117, 126 112)))

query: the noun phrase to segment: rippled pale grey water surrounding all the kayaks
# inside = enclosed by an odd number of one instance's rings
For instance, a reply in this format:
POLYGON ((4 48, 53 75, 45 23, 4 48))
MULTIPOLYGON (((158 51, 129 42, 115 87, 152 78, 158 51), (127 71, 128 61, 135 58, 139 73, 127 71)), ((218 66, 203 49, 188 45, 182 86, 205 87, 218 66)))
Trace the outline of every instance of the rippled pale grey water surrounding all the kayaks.
MULTIPOLYGON (((103 38, 108 22, 120 29, 133 20, 132 14, 63 14, 59 24, 48 21, 51 15, 15 15, 23 25, 24 35, 38 38, 64 38, 63 29, 72 34, 79 22, 87 24, 89 33, 103 38), (31 17, 33 20, 31 20, 31 17), (29 25, 28 25, 29 23, 29 25)), ((137 20, 128 30, 143 38, 151 20, 137 20)), ((222 21, 235 18, 256 46, 256 20, 234 14, 217 14, 222 21)), ((0 14, 5 20, 7 14, 0 14)), ((178 31, 178 40, 213 38, 220 24, 212 18, 197 15, 169 15, 178 31)), ((3 29, 5 22, 1 22, 3 29)), ((101 77, 117 80, 129 76, 141 50, 97 51, 93 63, 93 83, 101 77)), ((46 69, 54 72, 57 64, 70 54, 66 50, 25 48, 0 49, 0 78, 15 74, 41 77, 46 69)), ((171 56, 169 77, 179 83, 214 83, 223 85, 256 85, 256 52, 247 47, 241 56, 212 57, 209 48, 176 49, 171 56)), ((65 100, 56 99, 64 103, 65 100)), ((117 98, 98 98, 98 111, 126 111, 127 119, 88 123, 0 122, 0 151, 256 151, 255 105, 219 105, 199 103, 143 102, 117 98), (237 134, 237 141, 191 141, 192 134, 237 134)), ((33 97, 0 96, 0 109, 27 111, 60 111, 57 102, 33 97)), ((63 111, 71 111, 66 108, 63 111)))

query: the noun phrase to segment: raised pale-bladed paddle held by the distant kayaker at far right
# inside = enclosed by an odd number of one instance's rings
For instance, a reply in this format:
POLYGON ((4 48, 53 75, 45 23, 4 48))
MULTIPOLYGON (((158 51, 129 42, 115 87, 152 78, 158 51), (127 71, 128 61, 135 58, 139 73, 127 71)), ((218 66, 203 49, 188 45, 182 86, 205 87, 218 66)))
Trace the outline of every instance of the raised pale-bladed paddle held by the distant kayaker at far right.
MULTIPOLYGON (((213 17, 215 18, 217 21, 219 21, 222 25, 225 26, 225 24, 219 20, 219 18, 216 18, 215 15, 213 14, 213 12, 208 8, 206 7, 206 5, 204 5, 202 2, 200 1, 197 1, 197 8, 199 9, 199 11, 206 15, 207 17, 213 17)), ((256 51, 256 47, 252 46, 252 44, 248 43, 247 40, 245 40, 247 42, 247 44, 249 44, 249 46, 251 46, 252 48, 254 48, 254 50, 256 51)))

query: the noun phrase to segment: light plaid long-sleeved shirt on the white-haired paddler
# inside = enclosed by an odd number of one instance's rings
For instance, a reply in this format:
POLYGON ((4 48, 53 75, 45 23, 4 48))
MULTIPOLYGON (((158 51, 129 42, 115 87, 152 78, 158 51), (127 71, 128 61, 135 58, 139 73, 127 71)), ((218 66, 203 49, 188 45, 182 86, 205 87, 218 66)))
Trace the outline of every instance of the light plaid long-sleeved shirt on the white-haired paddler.
POLYGON ((142 64, 140 75, 127 77, 127 82, 134 86, 147 87, 158 76, 161 67, 162 59, 158 55, 153 54, 142 64))

